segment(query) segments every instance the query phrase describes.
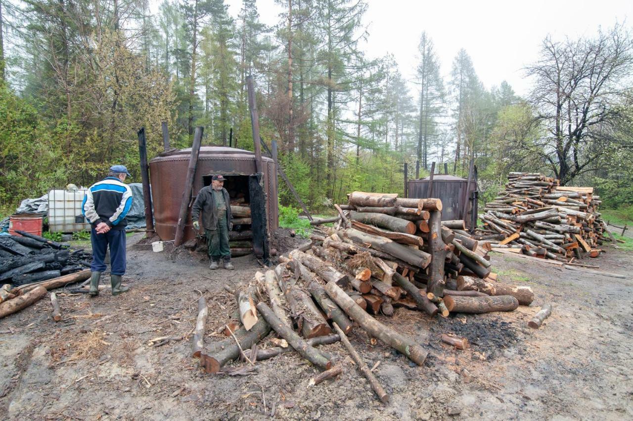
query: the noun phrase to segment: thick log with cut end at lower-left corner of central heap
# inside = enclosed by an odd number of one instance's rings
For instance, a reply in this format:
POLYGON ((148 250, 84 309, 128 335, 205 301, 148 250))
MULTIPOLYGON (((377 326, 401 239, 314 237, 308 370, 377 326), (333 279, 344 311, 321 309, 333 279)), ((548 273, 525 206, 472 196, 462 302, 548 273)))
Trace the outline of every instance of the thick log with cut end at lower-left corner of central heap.
MULTIPOLYGON (((251 348, 254 344, 265 338, 270 333, 270 325, 263 317, 257 321, 250 331, 241 327, 233 334, 242 350, 251 348)), ((210 350, 200 354, 200 366, 207 373, 216 373, 220 368, 231 360, 235 360, 240 355, 239 346, 235 344, 233 336, 211 345, 210 350)))

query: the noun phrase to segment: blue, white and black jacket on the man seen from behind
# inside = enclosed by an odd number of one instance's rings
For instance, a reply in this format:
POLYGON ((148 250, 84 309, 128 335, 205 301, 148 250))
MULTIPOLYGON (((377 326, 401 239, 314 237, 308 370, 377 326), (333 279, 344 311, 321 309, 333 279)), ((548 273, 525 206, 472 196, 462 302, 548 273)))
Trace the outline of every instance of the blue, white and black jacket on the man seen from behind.
POLYGON ((125 229, 125 216, 132 207, 132 189, 115 177, 106 177, 87 190, 82 213, 93 226, 104 222, 112 229, 125 229))

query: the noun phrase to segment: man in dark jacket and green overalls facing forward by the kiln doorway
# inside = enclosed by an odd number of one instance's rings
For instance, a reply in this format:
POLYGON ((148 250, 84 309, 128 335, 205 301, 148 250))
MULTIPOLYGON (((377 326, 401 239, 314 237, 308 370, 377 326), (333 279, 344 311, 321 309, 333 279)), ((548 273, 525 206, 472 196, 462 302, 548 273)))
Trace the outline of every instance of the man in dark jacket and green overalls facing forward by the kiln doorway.
POLYGON ((224 186, 225 178, 215 174, 211 185, 200 189, 191 207, 191 220, 196 231, 200 230, 199 215, 202 211, 202 226, 206 234, 207 253, 211 259, 209 269, 218 269, 220 259, 224 269, 234 269, 229 248, 229 231, 232 229, 229 192, 224 186))

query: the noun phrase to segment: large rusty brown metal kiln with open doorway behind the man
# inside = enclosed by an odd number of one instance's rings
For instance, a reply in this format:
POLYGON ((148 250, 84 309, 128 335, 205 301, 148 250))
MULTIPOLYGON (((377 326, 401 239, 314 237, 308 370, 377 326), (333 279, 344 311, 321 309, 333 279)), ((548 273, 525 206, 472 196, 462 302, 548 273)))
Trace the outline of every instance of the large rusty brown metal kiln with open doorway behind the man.
MULTIPOLYGON (((149 161, 150 185, 154 205, 154 229, 163 241, 173 240, 185 185, 187 165, 191 148, 173 150, 160 154, 149 161)), ((279 198, 275 162, 266 156, 261 157, 263 166, 263 189, 266 193, 266 217, 268 229, 279 226, 279 198)), ((202 146, 198 156, 194 176, 193 197, 189 204, 189 214, 185 226, 184 240, 196 238, 191 223, 191 205, 197 193, 211 184, 213 174, 222 174, 227 178, 224 186, 227 190, 239 190, 248 195, 248 176, 255 173, 255 154, 249 150, 219 146, 202 146)))

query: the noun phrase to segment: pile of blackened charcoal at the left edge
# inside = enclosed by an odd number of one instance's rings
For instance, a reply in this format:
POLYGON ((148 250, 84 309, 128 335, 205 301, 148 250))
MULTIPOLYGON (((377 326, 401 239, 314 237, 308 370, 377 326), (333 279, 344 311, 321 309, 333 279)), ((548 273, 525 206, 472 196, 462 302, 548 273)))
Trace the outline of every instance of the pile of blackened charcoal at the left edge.
POLYGON ((0 281, 13 286, 46 281, 90 267, 92 254, 82 248, 16 231, 0 235, 0 281))

